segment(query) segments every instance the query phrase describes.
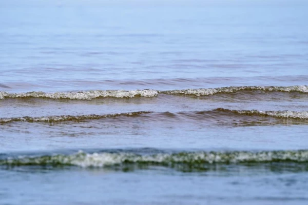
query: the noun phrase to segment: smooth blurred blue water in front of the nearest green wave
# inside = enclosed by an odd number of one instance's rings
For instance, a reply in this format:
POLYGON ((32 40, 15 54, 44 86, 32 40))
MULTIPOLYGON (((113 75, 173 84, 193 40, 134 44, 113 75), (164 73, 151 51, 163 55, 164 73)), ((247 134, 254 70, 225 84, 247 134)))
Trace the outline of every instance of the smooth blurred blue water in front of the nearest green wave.
POLYGON ((8 204, 306 204, 306 172, 236 167, 183 173, 172 169, 0 170, 8 204), (29 186, 29 184, 31 186, 29 186), (180 189, 179 189, 180 188, 180 189), (38 192, 37 190, 40 190, 38 192), (119 193, 121 193, 119 195, 119 193), (18 196, 18 197, 16 197, 18 196))

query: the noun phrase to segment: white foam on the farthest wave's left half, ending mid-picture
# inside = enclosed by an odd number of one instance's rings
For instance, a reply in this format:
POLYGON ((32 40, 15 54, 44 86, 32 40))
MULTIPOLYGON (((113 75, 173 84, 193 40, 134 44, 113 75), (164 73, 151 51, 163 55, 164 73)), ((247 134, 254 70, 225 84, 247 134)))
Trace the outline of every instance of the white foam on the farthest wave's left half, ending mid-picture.
POLYGON ((131 97, 155 97, 158 92, 156 90, 92 90, 80 92, 26 92, 26 93, 8 93, 0 92, 0 99, 5 98, 49 98, 49 99, 78 99, 91 100, 99 97, 114 98, 131 98, 131 97))

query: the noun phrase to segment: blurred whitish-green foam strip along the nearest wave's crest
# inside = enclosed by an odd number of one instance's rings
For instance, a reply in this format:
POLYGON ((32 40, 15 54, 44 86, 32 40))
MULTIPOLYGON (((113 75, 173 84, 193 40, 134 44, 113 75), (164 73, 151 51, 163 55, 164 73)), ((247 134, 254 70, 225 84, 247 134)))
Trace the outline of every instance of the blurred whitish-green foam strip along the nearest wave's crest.
POLYGON ((267 162, 308 162, 308 150, 296 151, 233 151, 233 152, 180 152, 140 155, 135 153, 86 153, 79 151, 71 155, 18 156, 0 159, 2 166, 79 166, 108 167, 118 165, 206 165, 267 162))

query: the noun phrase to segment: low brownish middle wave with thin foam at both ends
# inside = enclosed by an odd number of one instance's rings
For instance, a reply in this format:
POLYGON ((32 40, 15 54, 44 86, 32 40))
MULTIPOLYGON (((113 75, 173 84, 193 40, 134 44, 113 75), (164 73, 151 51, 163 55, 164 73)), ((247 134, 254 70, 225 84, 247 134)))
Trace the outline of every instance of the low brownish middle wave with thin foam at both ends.
POLYGON ((274 119, 287 119, 289 123, 292 120, 295 122, 307 122, 308 111, 259 111, 259 110, 229 110, 224 108, 217 108, 207 111, 194 111, 194 112, 151 112, 139 111, 129 113, 115 113, 106 115, 59 115, 59 116, 43 116, 43 117, 8 117, 0 118, 0 124, 10 122, 62 122, 62 121, 75 121, 81 122, 86 120, 117 120, 117 118, 130 120, 129 117, 142 118, 143 120, 173 120, 173 121, 200 121, 200 122, 258 122, 262 121, 263 124, 268 123, 264 118, 274 119), (125 118, 123 118, 125 117, 125 118))

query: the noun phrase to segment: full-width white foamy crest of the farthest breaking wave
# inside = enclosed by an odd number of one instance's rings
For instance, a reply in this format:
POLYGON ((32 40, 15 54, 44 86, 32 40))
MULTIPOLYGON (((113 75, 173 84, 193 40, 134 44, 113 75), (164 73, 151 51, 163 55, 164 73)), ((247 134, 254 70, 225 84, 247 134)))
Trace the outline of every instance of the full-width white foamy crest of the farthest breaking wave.
POLYGON ((0 92, 0 99, 6 98, 48 98, 48 99, 74 99, 74 100, 91 100, 94 98, 132 98, 132 97, 156 97, 158 94, 167 95, 195 95, 207 96, 219 93, 234 93, 240 91, 264 91, 264 92, 297 92, 308 93, 308 86, 240 86, 240 87, 223 87, 223 88, 201 88, 185 90, 92 90, 80 92, 26 92, 26 93, 9 93, 0 92))

